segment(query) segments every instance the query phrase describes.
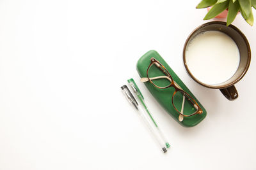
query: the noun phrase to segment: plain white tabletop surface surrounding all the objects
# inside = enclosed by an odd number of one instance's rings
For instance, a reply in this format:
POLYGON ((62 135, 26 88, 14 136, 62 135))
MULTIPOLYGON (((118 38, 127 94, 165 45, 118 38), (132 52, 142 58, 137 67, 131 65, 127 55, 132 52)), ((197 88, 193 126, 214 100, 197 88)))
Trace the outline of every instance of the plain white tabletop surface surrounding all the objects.
MULTIPOLYGON (((233 23, 252 48, 239 98, 189 78, 182 48, 200 1, 0 1, 0 169, 256 169, 255 26, 233 23), (207 110, 180 126, 136 71, 157 50, 207 110), (172 145, 156 142, 120 87, 134 78, 172 145)), ((253 10, 255 18, 256 13, 253 10)))

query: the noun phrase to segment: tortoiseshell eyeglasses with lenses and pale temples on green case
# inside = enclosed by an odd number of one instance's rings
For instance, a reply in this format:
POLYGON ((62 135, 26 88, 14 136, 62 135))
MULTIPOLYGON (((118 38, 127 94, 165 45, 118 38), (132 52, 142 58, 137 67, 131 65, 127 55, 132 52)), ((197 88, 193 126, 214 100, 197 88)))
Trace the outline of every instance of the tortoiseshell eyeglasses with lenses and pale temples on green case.
POLYGON ((196 114, 202 114, 203 111, 196 103, 195 99, 185 92, 175 81, 166 68, 156 59, 150 59, 151 63, 147 69, 147 78, 141 78, 142 82, 150 81, 152 85, 159 89, 173 87, 175 91, 172 94, 172 105, 179 112, 180 122, 183 117, 191 117, 196 114), (186 107, 184 107, 186 105, 186 107))

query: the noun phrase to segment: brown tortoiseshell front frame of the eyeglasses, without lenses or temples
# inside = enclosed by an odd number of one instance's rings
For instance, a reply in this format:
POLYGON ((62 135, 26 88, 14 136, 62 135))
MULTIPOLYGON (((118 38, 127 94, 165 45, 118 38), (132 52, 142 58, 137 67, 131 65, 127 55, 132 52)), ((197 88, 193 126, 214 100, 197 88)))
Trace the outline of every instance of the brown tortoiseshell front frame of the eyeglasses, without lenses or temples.
MULTIPOLYGON (((202 114, 203 113, 203 111, 202 111, 202 109, 200 108, 200 106, 199 106, 199 104, 198 103, 196 103, 196 101, 195 101, 195 99, 193 99, 193 97, 191 97, 187 92, 185 92, 184 90, 182 90, 179 86, 177 86, 177 85, 175 85, 175 82, 173 81, 173 78, 172 78, 172 76, 171 76, 171 74, 167 71, 167 69, 163 66, 163 64, 161 64, 158 60, 156 60, 156 59, 154 59, 154 58, 151 58, 150 59, 150 61, 151 61, 151 63, 149 64, 149 66, 148 66, 148 69, 147 69, 147 78, 148 78, 148 80, 150 81, 150 83, 152 83, 152 85, 154 85, 155 87, 157 87, 157 88, 159 88, 159 89, 166 89, 166 88, 168 88, 168 87, 173 87, 174 89, 175 89, 175 91, 173 92, 173 94, 172 94, 172 105, 173 105, 173 108, 175 108, 175 110, 176 111, 178 111, 179 112, 179 114, 180 115, 183 115, 184 117, 191 117, 191 116, 193 116, 193 115, 196 115, 196 114, 202 114), (149 68, 153 65, 153 64, 156 64, 156 66, 166 75, 166 76, 168 76, 172 81, 171 81, 171 83, 170 83, 170 85, 168 85, 168 86, 166 86, 166 87, 159 87, 159 86, 157 86, 155 83, 153 83, 153 81, 151 80, 151 78, 148 76, 148 70, 149 70, 149 68), (161 66, 161 67, 160 67, 161 66), (189 98, 188 98, 188 100, 194 105, 196 105, 196 107, 198 108, 198 110, 195 112, 195 113, 192 113, 191 115, 184 115, 183 113, 180 113, 180 111, 179 110, 177 110, 177 108, 175 107, 175 105, 174 105, 174 103, 173 103, 173 97, 175 96, 175 94, 177 93, 177 92, 182 92, 182 93, 184 93, 184 94, 186 94, 186 96, 188 96, 189 98), (191 101, 191 99, 192 99, 192 101, 191 101)), ((168 81, 170 81, 168 78, 166 78, 168 81)), ((194 106, 195 106, 194 105, 194 106)))

